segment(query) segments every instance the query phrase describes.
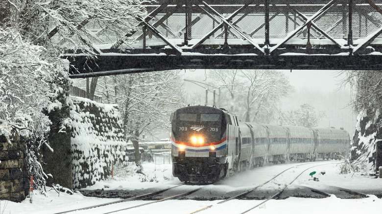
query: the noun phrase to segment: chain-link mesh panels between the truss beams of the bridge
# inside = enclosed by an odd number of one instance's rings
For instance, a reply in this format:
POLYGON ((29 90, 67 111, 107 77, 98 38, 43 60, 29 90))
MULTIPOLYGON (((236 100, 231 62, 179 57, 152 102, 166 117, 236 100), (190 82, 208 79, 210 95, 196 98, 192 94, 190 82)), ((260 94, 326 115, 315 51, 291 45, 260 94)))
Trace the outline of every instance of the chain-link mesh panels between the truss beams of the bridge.
MULTIPOLYGON (((183 41, 186 33, 186 14, 183 1, 174 1, 176 5, 168 5, 167 10, 156 14, 148 21, 149 24, 154 26, 161 34, 167 39, 173 41, 183 41), (179 4, 179 5, 178 5, 179 4), (173 11, 170 11, 173 10, 173 11), (169 12, 170 11, 170 12, 169 12)), ((211 8, 216 12, 212 12, 206 6, 193 3, 191 5, 191 21, 190 32, 188 39, 201 39, 205 37, 211 30, 222 23, 221 17, 227 18, 235 13, 236 10, 241 8, 244 1, 239 1, 236 4, 215 4, 213 1, 208 1, 211 8), (241 3, 240 3, 241 2, 241 3), (221 17, 220 17, 221 15, 221 17)), ((321 0, 319 2, 308 2, 302 4, 296 1, 269 1, 269 37, 270 39, 277 40, 287 37, 287 35, 304 25, 311 16, 320 11, 326 3, 330 0, 321 0), (282 3, 280 3, 282 2, 282 3)), ((307 39, 308 35, 312 39, 325 39, 328 34, 334 39, 347 39, 349 34, 349 1, 335 1, 334 5, 328 10, 323 12, 312 20, 314 26, 311 28, 310 33, 308 29, 304 28, 298 32, 294 39, 307 39), (319 30, 317 29, 319 28, 319 30), (322 31, 322 32, 321 32, 322 31)), ((147 5, 148 6, 148 5, 147 5)), ((156 5, 157 7, 160 4, 156 5)), ((156 7, 149 7, 148 12, 151 12, 156 7)), ((382 27, 382 0, 373 0, 367 2, 364 0, 353 0, 351 21, 354 39, 364 39, 370 33, 379 30, 382 27)), ((265 8, 263 4, 250 4, 245 9, 240 10, 235 16, 232 17, 230 22, 236 26, 239 31, 244 33, 248 38, 259 39, 258 43, 263 43, 265 35, 265 8)), ((138 26, 139 21, 131 20, 138 26)), ((65 27, 63 27, 65 28, 65 27)), ((162 42, 151 30, 146 29, 147 45, 154 45, 162 42)), ((241 36, 227 26, 228 39, 240 39, 241 36)), ((84 27, 81 28, 81 37, 86 38, 94 44, 112 44, 116 41, 123 39, 131 47, 135 47, 134 43, 142 43, 143 30, 139 28, 132 30, 132 34, 125 37, 129 30, 123 31, 122 29, 112 30, 107 21, 101 21, 95 18, 89 19, 84 27)), ((224 27, 220 27, 209 39, 224 39, 224 27)), ((379 35, 378 38, 382 38, 379 35)), ((63 38, 60 34, 56 34, 51 38, 52 41, 57 43, 58 46, 72 46, 73 44, 80 44, 81 40, 78 36, 72 38, 63 38)))

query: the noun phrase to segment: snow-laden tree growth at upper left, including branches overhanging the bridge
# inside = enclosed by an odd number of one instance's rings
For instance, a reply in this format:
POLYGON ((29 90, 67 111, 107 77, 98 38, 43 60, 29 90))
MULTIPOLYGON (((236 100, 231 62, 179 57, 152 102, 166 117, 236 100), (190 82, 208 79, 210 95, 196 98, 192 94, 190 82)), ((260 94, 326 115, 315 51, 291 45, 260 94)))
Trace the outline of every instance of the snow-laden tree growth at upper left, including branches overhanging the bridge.
POLYGON ((75 48, 91 58, 100 40, 122 43, 137 26, 135 16, 146 14, 144 1, 0 1, 0 132, 34 139, 28 154, 35 184, 44 183, 39 150, 48 145, 49 129, 58 131, 65 121, 52 122, 45 114, 64 112, 67 105, 68 66, 59 55, 75 48))

